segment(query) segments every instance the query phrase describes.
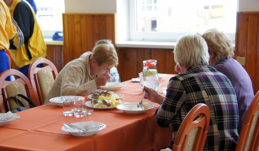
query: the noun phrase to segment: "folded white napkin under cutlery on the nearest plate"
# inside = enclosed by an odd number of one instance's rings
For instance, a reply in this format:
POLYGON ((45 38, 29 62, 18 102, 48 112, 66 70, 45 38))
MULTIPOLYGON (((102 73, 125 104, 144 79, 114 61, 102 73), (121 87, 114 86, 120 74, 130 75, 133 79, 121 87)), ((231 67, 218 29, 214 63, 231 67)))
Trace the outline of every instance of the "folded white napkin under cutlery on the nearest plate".
MULTIPOLYGON (((87 129, 87 128, 92 128, 94 127, 93 125, 93 122, 92 121, 88 121, 88 122, 77 122, 77 123, 71 123, 72 125, 75 125, 76 127, 78 128, 82 128, 82 129, 87 129)), ((67 126, 66 124, 64 124, 64 127, 68 130, 70 130, 71 132, 83 132, 83 131, 80 131, 79 129, 77 128, 73 128, 71 126, 67 126)), ((97 130, 98 127, 96 128, 92 128, 89 130, 90 131, 94 131, 94 130, 97 130)))

